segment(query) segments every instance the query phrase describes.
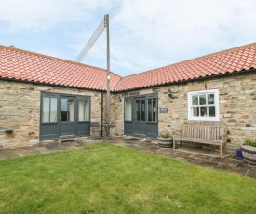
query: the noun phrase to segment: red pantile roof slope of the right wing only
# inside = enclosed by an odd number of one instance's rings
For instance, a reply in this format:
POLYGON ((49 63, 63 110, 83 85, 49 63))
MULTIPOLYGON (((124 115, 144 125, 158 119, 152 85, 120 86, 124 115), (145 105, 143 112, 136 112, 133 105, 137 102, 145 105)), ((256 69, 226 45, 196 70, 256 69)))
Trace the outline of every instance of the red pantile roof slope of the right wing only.
POLYGON ((123 77, 115 91, 151 87, 253 68, 256 68, 256 43, 123 77))

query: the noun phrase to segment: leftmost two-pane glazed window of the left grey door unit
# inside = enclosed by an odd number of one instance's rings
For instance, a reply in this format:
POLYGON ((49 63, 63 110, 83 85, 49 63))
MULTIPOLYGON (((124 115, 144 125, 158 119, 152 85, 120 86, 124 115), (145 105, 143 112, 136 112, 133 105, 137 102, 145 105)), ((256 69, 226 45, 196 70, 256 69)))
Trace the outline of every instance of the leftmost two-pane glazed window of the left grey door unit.
POLYGON ((53 97, 43 98, 42 122, 43 123, 57 122, 57 98, 53 98, 53 97))

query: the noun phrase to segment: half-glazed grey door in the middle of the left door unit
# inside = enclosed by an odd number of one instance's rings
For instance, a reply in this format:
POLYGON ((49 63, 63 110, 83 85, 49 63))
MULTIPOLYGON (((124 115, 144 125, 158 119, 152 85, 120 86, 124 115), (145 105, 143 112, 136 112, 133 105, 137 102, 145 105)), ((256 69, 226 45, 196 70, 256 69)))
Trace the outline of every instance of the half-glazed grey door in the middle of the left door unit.
POLYGON ((60 137, 75 135, 75 97, 61 96, 60 137))

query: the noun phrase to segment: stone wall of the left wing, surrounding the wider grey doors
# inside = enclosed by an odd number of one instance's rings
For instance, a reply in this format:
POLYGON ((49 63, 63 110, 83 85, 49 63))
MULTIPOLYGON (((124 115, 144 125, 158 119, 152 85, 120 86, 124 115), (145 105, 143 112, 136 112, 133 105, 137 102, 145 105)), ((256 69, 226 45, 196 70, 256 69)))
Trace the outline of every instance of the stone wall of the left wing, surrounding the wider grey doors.
POLYGON ((32 146, 39 142, 43 91, 91 96, 91 121, 100 122, 101 126, 101 92, 0 80, 0 148, 32 146), (12 129, 13 134, 6 134, 7 129, 12 129))

